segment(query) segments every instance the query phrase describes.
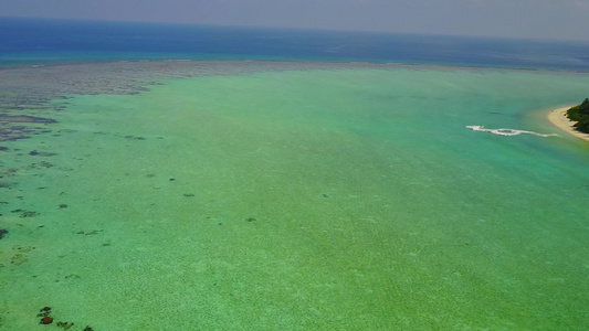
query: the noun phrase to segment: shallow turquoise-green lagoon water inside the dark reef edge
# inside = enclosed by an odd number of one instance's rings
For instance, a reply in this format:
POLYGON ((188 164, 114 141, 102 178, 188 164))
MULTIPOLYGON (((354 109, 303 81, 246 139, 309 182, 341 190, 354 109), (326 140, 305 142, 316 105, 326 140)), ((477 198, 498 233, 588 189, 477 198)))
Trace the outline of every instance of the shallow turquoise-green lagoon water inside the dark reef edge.
POLYGON ((55 100, 3 143, 0 329, 583 330, 589 145, 545 115, 588 84, 343 66, 55 100))

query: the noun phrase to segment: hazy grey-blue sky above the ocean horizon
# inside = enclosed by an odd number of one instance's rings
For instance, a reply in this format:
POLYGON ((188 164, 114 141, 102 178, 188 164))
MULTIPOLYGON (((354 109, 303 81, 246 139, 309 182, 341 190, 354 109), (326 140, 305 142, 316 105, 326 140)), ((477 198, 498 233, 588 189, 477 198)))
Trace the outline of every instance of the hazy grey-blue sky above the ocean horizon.
POLYGON ((589 0, 0 0, 0 15, 589 41, 589 0))

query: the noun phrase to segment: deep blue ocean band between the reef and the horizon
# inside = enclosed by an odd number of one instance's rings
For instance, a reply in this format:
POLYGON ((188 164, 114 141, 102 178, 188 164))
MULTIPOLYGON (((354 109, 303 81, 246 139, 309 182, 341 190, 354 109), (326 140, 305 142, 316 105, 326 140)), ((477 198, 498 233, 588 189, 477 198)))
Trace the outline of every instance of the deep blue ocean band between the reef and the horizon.
POLYGON ((178 58, 589 72, 589 42, 0 18, 0 67, 178 58))

